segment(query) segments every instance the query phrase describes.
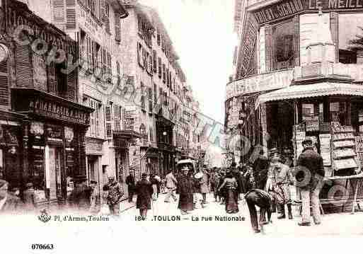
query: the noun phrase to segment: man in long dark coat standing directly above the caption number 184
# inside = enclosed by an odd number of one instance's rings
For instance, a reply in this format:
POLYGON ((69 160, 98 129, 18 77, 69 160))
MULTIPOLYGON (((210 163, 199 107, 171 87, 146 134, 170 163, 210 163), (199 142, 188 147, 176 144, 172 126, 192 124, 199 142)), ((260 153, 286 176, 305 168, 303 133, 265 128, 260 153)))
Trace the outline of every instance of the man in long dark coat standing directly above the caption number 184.
POLYGON ((153 187, 146 180, 146 173, 142 174, 142 180, 137 182, 135 190, 137 193, 136 208, 140 211, 140 216, 144 221, 147 216, 147 210, 151 209, 151 196, 153 195, 153 187))

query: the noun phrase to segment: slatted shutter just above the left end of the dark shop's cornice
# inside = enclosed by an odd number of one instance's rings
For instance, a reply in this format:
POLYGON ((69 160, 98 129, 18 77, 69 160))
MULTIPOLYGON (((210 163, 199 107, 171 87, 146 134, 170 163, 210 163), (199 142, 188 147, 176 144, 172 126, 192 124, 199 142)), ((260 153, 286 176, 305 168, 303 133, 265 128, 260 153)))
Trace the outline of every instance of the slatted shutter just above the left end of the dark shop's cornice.
POLYGON ((16 45, 16 86, 33 86, 33 71, 30 66, 28 45, 16 45))

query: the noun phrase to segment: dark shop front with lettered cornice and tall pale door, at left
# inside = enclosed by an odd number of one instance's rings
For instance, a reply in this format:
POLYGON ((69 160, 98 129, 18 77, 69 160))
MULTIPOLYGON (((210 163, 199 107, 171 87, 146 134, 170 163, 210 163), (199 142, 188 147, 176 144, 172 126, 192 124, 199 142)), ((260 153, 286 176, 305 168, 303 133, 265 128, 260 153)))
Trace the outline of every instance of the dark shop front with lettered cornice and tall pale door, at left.
POLYGON ((37 202, 65 204, 74 178, 86 178, 85 134, 92 109, 33 88, 13 88, 12 108, 26 115, 21 183, 37 202))

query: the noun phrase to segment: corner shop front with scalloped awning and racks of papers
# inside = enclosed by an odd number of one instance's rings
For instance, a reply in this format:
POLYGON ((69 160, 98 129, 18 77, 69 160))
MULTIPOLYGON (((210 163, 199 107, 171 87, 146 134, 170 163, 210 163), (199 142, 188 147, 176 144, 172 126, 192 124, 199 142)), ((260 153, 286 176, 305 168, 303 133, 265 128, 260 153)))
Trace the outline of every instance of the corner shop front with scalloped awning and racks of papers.
POLYGON ((353 204, 363 199, 363 86, 352 83, 349 75, 338 76, 309 81, 295 76, 292 86, 256 101, 267 149, 293 151, 296 166, 302 142, 309 138, 323 157, 326 184, 320 197, 325 212, 354 211, 353 204))

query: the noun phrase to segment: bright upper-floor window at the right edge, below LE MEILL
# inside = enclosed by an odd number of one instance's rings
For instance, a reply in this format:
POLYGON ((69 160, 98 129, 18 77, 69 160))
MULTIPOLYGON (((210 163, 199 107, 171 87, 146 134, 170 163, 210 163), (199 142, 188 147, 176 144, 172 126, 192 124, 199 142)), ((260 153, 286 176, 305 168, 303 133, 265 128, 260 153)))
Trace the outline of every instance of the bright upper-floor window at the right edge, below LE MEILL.
POLYGON ((357 64, 357 51, 363 50, 363 13, 338 16, 339 62, 357 64))

